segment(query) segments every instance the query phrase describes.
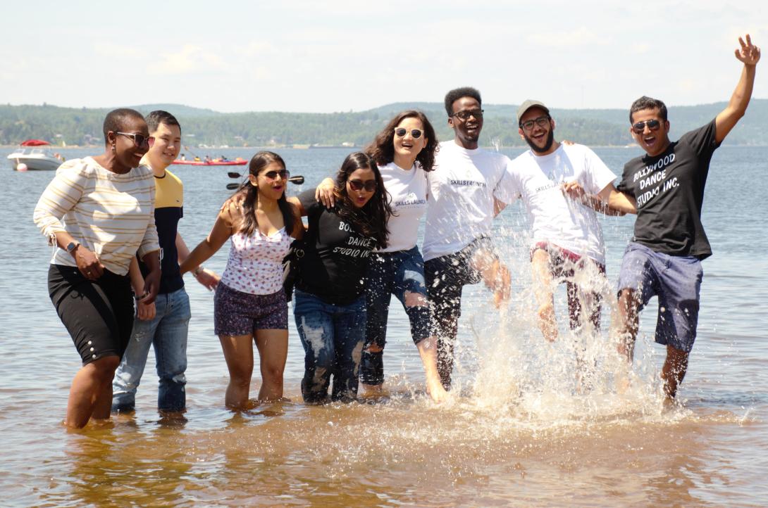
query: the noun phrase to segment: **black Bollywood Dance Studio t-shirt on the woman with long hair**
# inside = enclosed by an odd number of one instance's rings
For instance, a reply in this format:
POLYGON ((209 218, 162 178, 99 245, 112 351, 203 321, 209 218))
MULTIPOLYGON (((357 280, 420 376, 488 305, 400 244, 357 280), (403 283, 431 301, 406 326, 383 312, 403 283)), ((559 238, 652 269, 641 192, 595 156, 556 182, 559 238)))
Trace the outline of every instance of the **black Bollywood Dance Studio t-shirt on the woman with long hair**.
POLYGON ((362 236, 315 200, 315 190, 298 196, 306 210, 308 229, 299 261, 296 289, 323 302, 346 305, 362 295, 374 239, 362 236))

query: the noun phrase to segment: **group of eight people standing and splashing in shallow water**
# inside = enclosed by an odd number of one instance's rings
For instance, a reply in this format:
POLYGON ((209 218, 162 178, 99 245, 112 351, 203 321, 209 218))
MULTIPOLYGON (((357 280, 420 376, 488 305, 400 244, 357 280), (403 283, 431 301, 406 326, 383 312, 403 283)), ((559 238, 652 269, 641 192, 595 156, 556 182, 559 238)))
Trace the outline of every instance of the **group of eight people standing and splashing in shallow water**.
POLYGON ((517 111, 518 134, 530 150, 515 160, 482 150, 481 96, 462 87, 445 95, 454 139, 439 143, 425 114, 402 111, 364 151, 350 153, 334 178, 299 196, 286 196, 283 158, 257 153, 247 180, 191 252, 177 230, 183 187, 167 170, 181 148, 179 122, 166 111, 146 119, 111 111, 104 153, 62 164, 35 208, 35 223, 56 246, 51 300, 83 364, 65 424, 84 427, 111 411, 131 411, 150 345, 158 408, 184 410, 187 272, 215 289, 214 328, 230 374, 227 407, 251 404, 254 342, 258 401, 283 397, 291 298, 305 351, 304 400, 355 401, 359 384, 363 395, 381 393, 391 295, 408 315, 426 391, 443 401, 463 286, 484 282, 497 307, 509 299, 510 273, 496 252, 492 220, 518 199, 531 226, 538 322, 548 341, 558 337, 555 283, 568 285, 571 328, 599 328, 601 297, 582 284, 605 277, 596 212, 637 213, 617 287, 617 348, 631 365, 637 315, 657 296, 656 341, 667 347, 662 378, 673 399, 696 337, 700 261, 711 254, 700 223, 710 158, 745 113, 760 60, 749 35, 739 41, 739 83, 707 125, 671 142, 664 103, 634 101, 630 131, 646 154, 626 164, 618 186, 588 147, 554 140, 555 120, 540 101, 517 111), (203 263, 227 239, 219 276, 203 263), (283 277, 289 252, 293 291, 283 277))

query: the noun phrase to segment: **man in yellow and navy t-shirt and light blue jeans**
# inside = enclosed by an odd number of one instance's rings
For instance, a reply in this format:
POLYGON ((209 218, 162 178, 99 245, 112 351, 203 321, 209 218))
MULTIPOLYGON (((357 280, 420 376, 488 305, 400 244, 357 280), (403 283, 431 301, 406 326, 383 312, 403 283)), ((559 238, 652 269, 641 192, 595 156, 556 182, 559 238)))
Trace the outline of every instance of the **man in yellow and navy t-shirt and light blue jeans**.
MULTIPOLYGON (((187 370, 190 301, 179 273, 179 262, 187 259, 189 249, 178 232, 179 219, 183 216, 184 186, 167 170, 181 148, 181 127, 176 117, 167 111, 152 111, 146 120, 154 145, 141 163, 154 174, 154 221, 160 239, 162 276, 157 299, 148 304, 137 303, 131 341, 112 381, 112 410, 134 410, 136 391, 152 345, 157 377, 160 378, 157 408, 164 412, 183 411, 186 407, 184 371, 187 370)), ((144 263, 131 263, 135 292, 141 289, 142 274, 146 272, 144 263)), ((193 273, 197 282, 207 289, 216 287, 218 276, 214 272, 197 266, 193 273)))

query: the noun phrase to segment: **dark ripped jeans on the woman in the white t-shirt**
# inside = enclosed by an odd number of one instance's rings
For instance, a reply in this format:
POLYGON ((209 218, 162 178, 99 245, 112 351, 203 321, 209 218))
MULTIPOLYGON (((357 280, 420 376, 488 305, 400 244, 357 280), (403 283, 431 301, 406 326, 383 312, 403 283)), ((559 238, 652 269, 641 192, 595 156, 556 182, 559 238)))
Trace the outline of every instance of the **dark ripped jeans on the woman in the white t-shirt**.
POLYGON ((362 350, 360 381, 384 382, 384 345, 389 301, 395 295, 405 308, 411 325, 411 338, 419 344, 430 335, 429 301, 424 281, 424 259, 418 247, 398 252, 376 252, 368 265, 366 281, 366 347, 362 350), (422 302, 416 305, 415 302, 422 302), (369 351, 370 346, 379 351, 369 351))

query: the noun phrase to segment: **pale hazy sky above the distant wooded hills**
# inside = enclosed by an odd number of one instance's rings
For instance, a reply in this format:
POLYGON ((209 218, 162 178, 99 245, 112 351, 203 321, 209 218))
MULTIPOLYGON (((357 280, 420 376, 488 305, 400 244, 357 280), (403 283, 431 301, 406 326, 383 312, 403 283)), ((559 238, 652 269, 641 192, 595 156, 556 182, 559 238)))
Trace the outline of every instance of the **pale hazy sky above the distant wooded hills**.
MULTIPOLYGON (((768 48, 764 0, 38 0, 2 12, 0 103, 65 107, 364 111, 460 86, 491 104, 707 104, 733 92, 739 35, 768 48)), ((768 98, 766 67, 753 97, 768 98)))

